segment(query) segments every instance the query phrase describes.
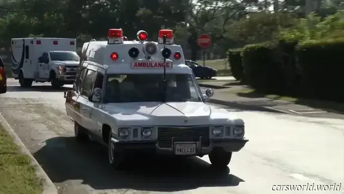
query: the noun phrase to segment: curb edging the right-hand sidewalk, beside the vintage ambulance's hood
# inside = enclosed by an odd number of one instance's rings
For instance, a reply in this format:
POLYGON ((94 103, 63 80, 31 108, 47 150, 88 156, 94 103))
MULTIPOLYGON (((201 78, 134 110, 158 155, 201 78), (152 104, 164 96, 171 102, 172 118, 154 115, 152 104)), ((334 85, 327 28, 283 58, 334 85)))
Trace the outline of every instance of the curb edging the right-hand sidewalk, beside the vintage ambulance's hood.
POLYGON ((214 103, 214 104, 225 105, 225 106, 231 106, 233 108, 239 108, 239 109, 242 109, 242 110, 256 110, 256 111, 262 111, 262 112, 291 114, 291 113, 289 113, 287 111, 280 110, 280 109, 277 109, 277 108, 266 107, 266 106, 258 106, 258 105, 251 105, 251 104, 242 104, 242 103, 238 103, 238 102, 224 101, 224 100, 219 100, 219 99, 214 99, 214 98, 210 98, 208 102, 214 103))

